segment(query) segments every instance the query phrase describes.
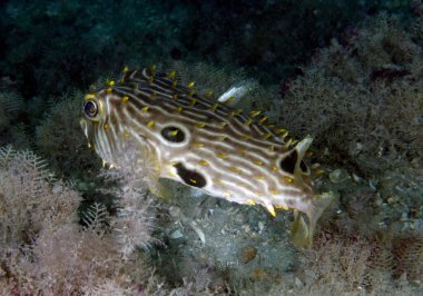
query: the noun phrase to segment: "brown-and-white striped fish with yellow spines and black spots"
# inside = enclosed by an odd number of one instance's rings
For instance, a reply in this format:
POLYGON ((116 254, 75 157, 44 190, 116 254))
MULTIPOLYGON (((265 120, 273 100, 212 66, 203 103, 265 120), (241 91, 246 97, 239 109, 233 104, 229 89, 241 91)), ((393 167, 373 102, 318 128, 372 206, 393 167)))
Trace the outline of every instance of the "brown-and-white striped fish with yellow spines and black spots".
MULTIPOLYGON (((313 138, 299 141, 275 127, 259 110, 233 106, 237 85, 218 98, 186 86, 175 71, 156 67, 129 70, 85 95, 81 128, 88 146, 117 168, 142 170, 149 189, 171 179, 209 196, 276 210, 294 210, 293 243, 311 247, 318 218, 334 199, 316 194, 315 174, 305 161, 313 138)), ((139 170, 140 171, 140 170, 139 170)))

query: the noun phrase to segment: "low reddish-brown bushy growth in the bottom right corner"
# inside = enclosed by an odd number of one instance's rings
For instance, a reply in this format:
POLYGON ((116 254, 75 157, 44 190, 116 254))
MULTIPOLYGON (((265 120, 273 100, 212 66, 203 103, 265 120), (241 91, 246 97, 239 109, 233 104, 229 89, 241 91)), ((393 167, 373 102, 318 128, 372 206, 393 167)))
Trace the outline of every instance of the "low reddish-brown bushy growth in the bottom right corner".
POLYGON ((303 251, 294 283, 275 285, 268 295, 281 295, 281 290, 295 295, 419 295, 422 292, 420 236, 404 239, 383 234, 368 239, 324 231, 316 244, 314 250, 303 251), (406 278, 402 280, 400 276, 404 273, 406 278))

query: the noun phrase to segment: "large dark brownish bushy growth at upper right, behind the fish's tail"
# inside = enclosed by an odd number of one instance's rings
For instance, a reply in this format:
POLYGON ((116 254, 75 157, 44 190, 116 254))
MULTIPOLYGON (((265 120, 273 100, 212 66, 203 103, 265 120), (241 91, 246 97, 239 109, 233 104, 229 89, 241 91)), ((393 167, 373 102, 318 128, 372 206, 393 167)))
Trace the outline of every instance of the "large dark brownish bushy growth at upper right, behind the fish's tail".
POLYGON ((284 87, 281 121, 361 174, 422 164, 422 49, 386 14, 355 31, 284 87))

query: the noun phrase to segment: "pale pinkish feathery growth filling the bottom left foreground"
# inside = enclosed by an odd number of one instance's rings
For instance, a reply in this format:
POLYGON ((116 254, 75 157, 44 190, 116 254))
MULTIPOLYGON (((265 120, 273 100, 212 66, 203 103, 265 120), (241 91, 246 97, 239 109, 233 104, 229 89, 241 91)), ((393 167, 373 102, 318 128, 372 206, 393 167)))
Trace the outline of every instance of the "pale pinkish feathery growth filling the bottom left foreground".
MULTIPOLYGON (((158 288, 159 293, 165 292, 140 254, 126 253, 122 258, 121 248, 126 246, 120 243, 127 240, 116 239, 117 233, 121 233, 115 228, 119 217, 109 216, 105 206, 95 204, 83 214, 82 228, 77 224, 79 203, 79 193, 55 180, 46 162, 35 154, 11 147, 0 149, 0 292, 17 295, 128 295, 140 289, 153 294, 158 288)), ((148 203, 141 207, 142 214, 151 215, 148 203)), ((145 231, 142 238, 150 239, 145 231)))

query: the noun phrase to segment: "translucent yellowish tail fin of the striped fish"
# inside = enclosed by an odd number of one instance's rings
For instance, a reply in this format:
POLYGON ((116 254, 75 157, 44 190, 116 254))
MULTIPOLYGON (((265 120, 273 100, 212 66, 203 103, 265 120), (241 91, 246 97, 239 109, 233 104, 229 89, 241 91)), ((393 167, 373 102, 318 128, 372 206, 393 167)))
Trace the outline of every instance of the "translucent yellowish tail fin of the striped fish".
POLYGON ((313 235, 316 229, 317 220, 323 211, 332 204, 335 195, 325 193, 313 198, 309 209, 305 213, 308 218, 308 224, 298 210, 294 211, 294 223, 292 226, 293 244, 297 247, 309 248, 313 245, 313 235))

